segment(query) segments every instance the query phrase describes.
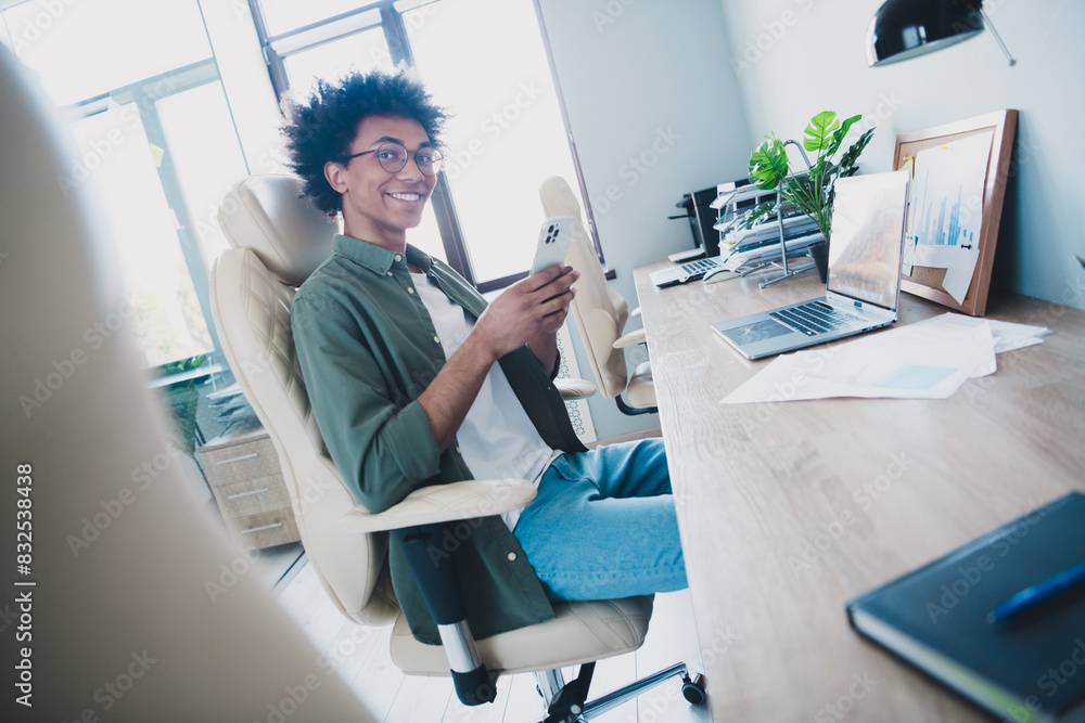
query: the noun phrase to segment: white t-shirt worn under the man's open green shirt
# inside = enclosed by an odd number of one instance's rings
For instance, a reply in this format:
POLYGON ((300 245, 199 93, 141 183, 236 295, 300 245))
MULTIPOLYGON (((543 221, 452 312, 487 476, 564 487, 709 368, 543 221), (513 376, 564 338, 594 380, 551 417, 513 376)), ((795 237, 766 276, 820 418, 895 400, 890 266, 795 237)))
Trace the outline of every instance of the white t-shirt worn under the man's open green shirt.
MULTIPOLYGON (((474 324, 468 320, 463 307, 445 296, 436 282, 425 274, 412 273, 411 279, 448 361, 474 324)), ((539 436, 500 364, 489 369, 463 424, 456 430, 456 441, 475 479, 513 477, 532 480, 536 487, 542 473, 561 454, 539 436)), ((501 518, 512 530, 520 511, 505 513, 501 518)))

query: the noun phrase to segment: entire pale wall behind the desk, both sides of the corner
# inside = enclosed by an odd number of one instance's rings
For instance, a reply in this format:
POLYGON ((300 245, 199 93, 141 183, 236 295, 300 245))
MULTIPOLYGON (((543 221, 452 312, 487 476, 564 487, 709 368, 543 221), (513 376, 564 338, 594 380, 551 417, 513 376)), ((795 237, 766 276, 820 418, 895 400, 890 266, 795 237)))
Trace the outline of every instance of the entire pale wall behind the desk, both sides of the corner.
MULTIPOLYGON (((824 109, 860 113, 878 127, 860 165, 878 172, 890 170, 898 132, 1016 108, 994 293, 1085 308, 1075 258, 1085 258, 1085 3, 987 0, 1013 67, 985 31, 869 68, 864 40, 881 2, 540 0, 600 241, 617 271, 611 283, 631 305, 631 269, 689 246, 688 228, 664 220, 674 203, 742 177, 762 135, 799 138, 824 109), (660 129, 678 138, 653 158, 660 129), (641 153, 655 162, 642 173, 630 163, 641 153)), ((603 401, 590 402, 600 437, 636 427, 603 401)))

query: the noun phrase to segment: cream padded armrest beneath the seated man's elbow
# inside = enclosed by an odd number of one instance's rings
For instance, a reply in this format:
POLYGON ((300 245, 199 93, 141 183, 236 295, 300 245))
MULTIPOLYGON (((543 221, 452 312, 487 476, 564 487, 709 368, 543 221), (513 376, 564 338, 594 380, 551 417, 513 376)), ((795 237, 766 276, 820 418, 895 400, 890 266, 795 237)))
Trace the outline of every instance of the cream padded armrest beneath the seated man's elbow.
POLYGON ((396 530, 500 515, 523 509, 534 499, 535 486, 526 479, 468 479, 414 490, 382 513, 355 505, 340 518, 340 525, 359 532, 396 530))

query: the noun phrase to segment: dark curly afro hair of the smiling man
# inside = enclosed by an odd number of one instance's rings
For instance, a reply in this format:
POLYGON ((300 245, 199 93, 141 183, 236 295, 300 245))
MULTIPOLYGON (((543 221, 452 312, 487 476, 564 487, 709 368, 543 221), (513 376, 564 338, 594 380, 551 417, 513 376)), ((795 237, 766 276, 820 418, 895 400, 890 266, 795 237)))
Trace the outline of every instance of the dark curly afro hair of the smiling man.
POLYGON ((320 210, 334 217, 343 210, 343 196, 324 178, 324 164, 346 163, 358 124, 367 116, 403 116, 421 124, 434 145, 448 117, 433 103, 422 83, 408 69, 394 74, 352 73, 339 82, 318 80, 308 94, 282 103, 286 122, 288 165, 302 179, 302 192, 320 210))

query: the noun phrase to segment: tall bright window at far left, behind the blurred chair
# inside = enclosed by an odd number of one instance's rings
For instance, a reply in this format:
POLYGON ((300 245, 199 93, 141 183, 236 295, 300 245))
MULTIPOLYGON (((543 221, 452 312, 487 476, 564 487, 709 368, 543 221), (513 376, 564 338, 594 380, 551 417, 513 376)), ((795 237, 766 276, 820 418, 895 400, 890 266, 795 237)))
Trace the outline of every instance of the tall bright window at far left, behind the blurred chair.
POLYGON ((216 209, 247 167, 196 0, 29 0, 3 20, 72 122, 58 183, 94 186, 144 364, 215 352, 216 209))

